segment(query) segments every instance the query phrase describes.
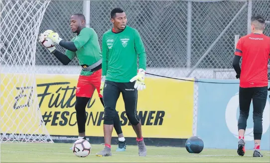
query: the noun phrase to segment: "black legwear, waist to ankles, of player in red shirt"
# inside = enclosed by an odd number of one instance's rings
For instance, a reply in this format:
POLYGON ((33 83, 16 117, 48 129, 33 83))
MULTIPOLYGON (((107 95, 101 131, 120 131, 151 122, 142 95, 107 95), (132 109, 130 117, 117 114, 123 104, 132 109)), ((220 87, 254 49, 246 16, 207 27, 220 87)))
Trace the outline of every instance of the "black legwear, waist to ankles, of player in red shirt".
POLYGON ((239 88, 240 116, 238 130, 247 128, 251 100, 253 102, 254 140, 261 140, 263 133, 263 113, 267 102, 268 87, 239 88))

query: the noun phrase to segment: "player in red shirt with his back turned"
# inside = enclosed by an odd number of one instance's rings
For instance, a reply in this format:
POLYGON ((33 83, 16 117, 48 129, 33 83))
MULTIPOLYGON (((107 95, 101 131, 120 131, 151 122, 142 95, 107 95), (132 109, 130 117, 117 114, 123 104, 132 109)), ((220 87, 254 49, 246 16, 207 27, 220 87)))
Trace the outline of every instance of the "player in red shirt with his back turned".
POLYGON ((236 78, 240 79, 238 119, 239 142, 237 153, 245 155, 245 130, 253 101, 254 153, 253 157, 263 157, 260 144, 263 133, 263 112, 268 94, 268 60, 270 58, 270 37, 263 34, 266 22, 261 15, 251 18, 252 33, 239 39, 233 67, 236 78), (242 57, 242 67, 239 61, 242 57))

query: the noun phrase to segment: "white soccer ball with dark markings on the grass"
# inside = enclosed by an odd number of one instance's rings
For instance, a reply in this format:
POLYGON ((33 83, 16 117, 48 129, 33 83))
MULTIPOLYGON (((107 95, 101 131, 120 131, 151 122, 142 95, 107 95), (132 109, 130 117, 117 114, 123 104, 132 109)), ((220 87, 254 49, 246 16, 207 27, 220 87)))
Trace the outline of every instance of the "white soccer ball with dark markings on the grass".
POLYGON ((73 144, 72 151, 77 157, 87 157, 91 152, 91 144, 85 139, 79 139, 73 144))

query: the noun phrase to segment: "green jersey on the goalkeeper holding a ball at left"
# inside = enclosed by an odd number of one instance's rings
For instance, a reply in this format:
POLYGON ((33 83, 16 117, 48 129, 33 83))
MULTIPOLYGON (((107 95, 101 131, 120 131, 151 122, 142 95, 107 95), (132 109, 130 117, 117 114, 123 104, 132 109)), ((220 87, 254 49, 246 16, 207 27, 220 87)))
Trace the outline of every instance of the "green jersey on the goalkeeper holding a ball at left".
MULTIPOLYGON (((102 58, 98 35, 93 28, 83 28, 80 34, 71 41, 74 42, 77 51, 66 50, 66 56, 70 60, 77 56, 80 65, 91 66, 102 58)), ((82 76, 90 76, 92 74, 93 72, 90 71, 81 71, 82 76)))

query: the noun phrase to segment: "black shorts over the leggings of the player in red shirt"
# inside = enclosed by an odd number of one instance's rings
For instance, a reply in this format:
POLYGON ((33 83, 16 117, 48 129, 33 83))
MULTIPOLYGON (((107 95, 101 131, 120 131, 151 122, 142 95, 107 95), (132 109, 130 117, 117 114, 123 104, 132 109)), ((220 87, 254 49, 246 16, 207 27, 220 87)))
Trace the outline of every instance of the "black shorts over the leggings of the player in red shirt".
POLYGON ((251 101, 253 102, 253 112, 263 114, 267 102, 268 87, 239 87, 239 107, 240 112, 249 112, 251 101))

